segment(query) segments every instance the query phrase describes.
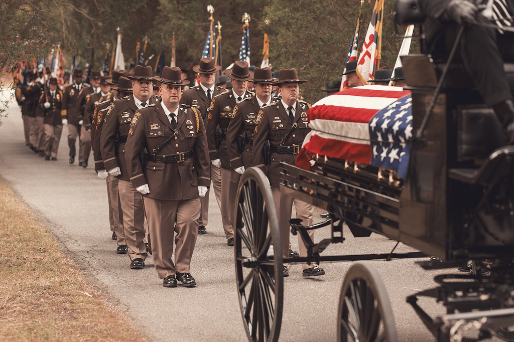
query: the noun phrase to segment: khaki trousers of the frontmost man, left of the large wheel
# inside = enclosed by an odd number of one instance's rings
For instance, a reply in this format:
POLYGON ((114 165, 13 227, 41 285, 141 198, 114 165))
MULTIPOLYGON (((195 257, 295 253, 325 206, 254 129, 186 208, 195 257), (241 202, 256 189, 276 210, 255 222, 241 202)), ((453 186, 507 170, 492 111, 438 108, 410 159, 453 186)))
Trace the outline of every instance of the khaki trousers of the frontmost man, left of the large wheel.
POLYGON ((198 236, 199 198, 161 201, 143 196, 144 211, 152 240, 152 257, 160 279, 176 272, 190 273, 189 265, 198 236), (173 237, 175 236, 175 263, 173 237))

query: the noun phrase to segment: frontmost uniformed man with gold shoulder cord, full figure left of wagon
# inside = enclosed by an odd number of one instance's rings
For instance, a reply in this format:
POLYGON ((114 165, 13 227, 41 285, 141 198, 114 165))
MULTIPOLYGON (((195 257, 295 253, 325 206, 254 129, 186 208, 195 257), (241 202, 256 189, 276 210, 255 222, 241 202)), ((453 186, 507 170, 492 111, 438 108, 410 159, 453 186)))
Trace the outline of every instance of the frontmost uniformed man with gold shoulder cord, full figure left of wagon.
POLYGON ((132 185, 143 194, 152 256, 162 286, 176 287, 178 280, 194 287, 189 265, 198 236, 198 197, 205 196, 210 184, 207 138, 200 112, 179 104, 180 87, 189 84, 180 79, 180 68, 164 67, 157 80, 162 102, 139 109, 130 124, 128 172, 132 185), (149 154, 143 166, 140 154, 145 149, 149 154))

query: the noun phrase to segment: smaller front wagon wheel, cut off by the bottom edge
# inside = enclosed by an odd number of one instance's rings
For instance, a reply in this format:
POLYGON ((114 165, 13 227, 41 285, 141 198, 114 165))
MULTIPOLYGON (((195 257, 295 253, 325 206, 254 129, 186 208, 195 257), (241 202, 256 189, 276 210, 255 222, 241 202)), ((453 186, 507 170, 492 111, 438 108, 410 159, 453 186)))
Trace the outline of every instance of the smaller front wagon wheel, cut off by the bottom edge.
POLYGON ((386 288, 369 265, 356 264, 346 273, 339 299, 337 335, 342 342, 397 340, 386 288))

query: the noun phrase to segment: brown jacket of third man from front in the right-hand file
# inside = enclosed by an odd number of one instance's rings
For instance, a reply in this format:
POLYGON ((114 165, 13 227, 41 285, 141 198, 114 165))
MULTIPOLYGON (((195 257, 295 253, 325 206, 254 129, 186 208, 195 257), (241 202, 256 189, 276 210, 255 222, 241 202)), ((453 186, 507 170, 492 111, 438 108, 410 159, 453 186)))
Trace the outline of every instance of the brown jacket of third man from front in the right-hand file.
MULTIPOLYGON (((252 93, 245 91, 244 98, 252 97, 252 93)), ((207 142, 209 144, 209 156, 211 160, 219 159, 222 162, 222 167, 231 169, 230 160, 227 151, 227 128, 230 120, 234 116, 236 108, 236 98, 233 91, 224 92, 212 98, 211 106, 209 107, 209 114, 205 123, 207 130, 207 142), (214 132, 217 127, 222 130, 223 141, 219 149, 216 149, 216 140, 214 139, 214 132)))

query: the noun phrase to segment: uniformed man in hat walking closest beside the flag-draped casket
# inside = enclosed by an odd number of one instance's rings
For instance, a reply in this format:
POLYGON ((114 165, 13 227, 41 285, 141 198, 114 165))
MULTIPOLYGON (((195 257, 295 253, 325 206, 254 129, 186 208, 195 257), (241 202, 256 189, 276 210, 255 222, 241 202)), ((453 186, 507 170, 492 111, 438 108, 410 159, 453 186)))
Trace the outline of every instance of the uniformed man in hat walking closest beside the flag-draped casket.
MULTIPOLYGON (((305 226, 312 225, 314 206, 289 195, 283 194, 279 190, 280 183, 280 162, 295 165, 296 157, 302 147, 305 136, 310 131, 308 126, 307 110, 310 105, 298 100, 299 85, 307 81, 298 79, 295 68, 287 70, 280 69, 279 80, 276 82, 278 91, 282 99, 276 103, 265 106, 259 111, 257 126, 253 134, 253 164, 259 167, 268 176, 273 199, 279 214, 279 226, 282 239, 282 256, 288 257, 289 245, 289 219, 291 218, 292 204, 295 203, 296 216, 302 219, 305 226), (271 155, 269 165, 265 167, 262 154, 264 143, 269 140, 271 155)), ((310 230, 309 236, 314 240, 314 230, 310 230)), ((307 249, 300 234, 298 234, 298 246, 300 256, 307 256, 307 249)), ((307 263, 302 263, 303 276, 318 276, 325 274, 323 269, 312 267, 307 263)), ((289 271, 284 265, 284 276, 287 277, 289 271)))

